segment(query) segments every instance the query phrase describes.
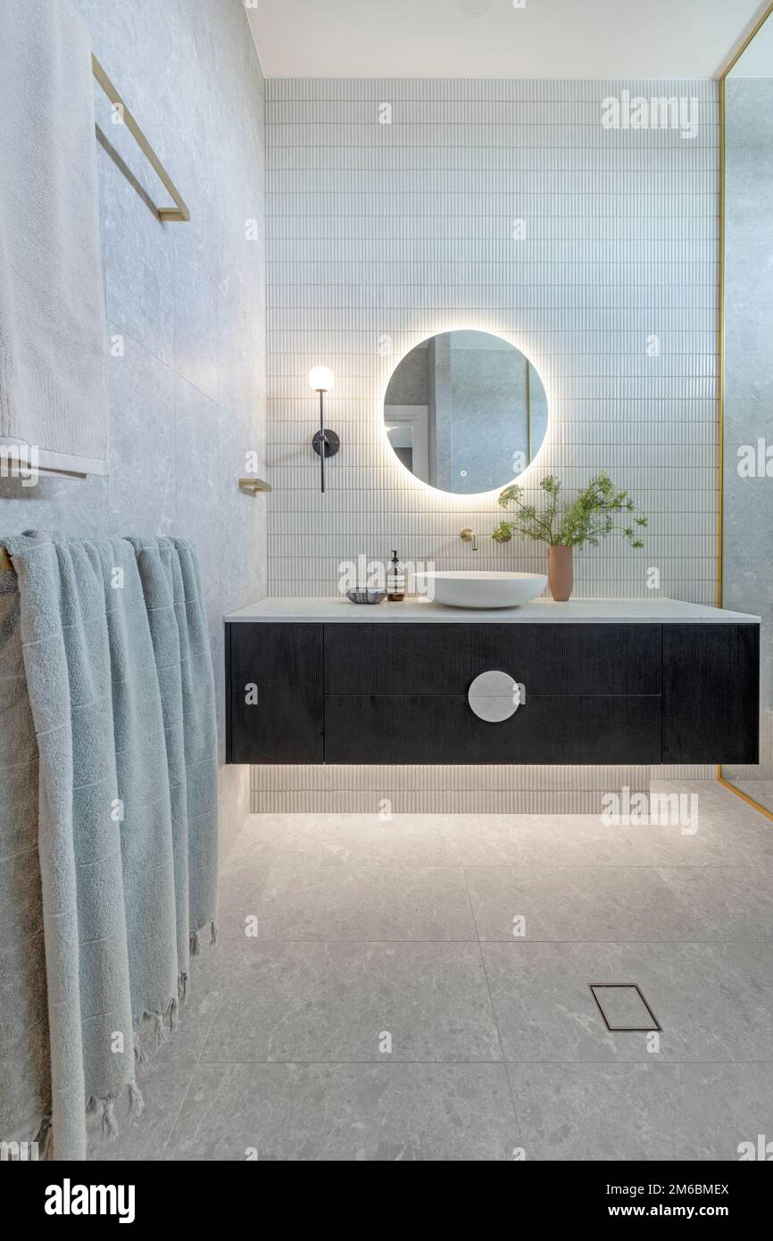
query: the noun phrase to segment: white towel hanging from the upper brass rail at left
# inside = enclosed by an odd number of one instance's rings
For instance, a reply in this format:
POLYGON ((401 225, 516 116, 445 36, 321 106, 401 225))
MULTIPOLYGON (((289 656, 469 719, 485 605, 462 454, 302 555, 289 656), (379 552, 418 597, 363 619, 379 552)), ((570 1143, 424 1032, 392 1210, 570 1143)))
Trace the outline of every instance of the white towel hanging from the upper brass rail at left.
POLYGON ((0 447, 107 473, 91 42, 71 0, 0 0, 0 447))

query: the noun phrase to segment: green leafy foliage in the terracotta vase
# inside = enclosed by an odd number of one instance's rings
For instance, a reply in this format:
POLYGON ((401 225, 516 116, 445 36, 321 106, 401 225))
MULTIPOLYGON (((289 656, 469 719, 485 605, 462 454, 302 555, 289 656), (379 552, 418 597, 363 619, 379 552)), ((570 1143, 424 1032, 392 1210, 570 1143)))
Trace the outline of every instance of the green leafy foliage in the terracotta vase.
POLYGON ((526 493, 517 483, 505 488, 499 504, 503 509, 515 505, 516 511, 511 520, 503 521, 496 527, 494 537, 509 539, 516 534, 551 547, 582 547, 583 544, 598 547, 601 539, 617 530, 632 547, 644 547, 640 534, 648 524, 646 517, 637 510, 628 491, 618 491, 603 470, 563 508, 560 504, 561 483, 557 478, 548 474, 540 486, 547 495, 547 504, 542 509, 524 503, 526 493), (632 516, 627 519, 628 514, 632 516), (618 515, 623 515, 622 524, 615 520, 618 515))

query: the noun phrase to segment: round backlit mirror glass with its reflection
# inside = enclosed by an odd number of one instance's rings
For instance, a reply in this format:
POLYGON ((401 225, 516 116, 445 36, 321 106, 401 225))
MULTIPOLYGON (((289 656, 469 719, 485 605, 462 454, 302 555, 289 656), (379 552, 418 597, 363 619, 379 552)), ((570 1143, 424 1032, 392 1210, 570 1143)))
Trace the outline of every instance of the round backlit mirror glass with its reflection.
POLYGON ((486 331, 444 331, 398 362, 383 421, 406 469, 440 491, 471 495, 506 486, 536 457, 547 397, 515 345, 486 331))

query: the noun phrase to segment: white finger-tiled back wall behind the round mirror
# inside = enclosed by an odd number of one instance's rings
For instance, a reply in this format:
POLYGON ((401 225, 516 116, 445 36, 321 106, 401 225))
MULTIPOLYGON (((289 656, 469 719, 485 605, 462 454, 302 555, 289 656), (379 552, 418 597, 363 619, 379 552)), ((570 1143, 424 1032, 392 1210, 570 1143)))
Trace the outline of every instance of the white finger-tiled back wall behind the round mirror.
MULTIPOLYGON (((382 432, 397 360, 467 326, 512 340, 547 388, 525 485, 556 472, 571 489, 605 468, 650 517, 643 552, 609 541, 577 557, 576 593, 644 596, 656 567, 661 594, 715 602, 715 83, 273 79, 267 161, 270 594, 329 594, 342 561, 393 546, 440 568, 542 568, 545 551, 516 540, 484 539, 473 561, 459 530, 490 532, 496 493, 428 490, 382 432), (605 130, 601 101, 623 89, 697 98, 697 135, 605 130), (324 496, 306 383, 318 362, 336 376, 325 422, 342 441, 324 496)), ((468 787, 483 791, 490 769, 478 771, 468 787)), ((582 781, 576 769, 589 792, 582 781)), ((568 808, 563 779, 551 787, 568 808)), ((541 804, 546 789, 530 792, 541 804)))

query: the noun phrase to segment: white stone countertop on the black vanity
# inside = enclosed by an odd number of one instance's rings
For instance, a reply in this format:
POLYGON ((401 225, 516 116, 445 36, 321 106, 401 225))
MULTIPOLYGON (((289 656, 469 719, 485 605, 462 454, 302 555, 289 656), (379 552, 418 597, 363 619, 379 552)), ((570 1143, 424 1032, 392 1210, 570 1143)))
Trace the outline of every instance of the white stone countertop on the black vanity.
POLYGON ((426 598, 409 598, 403 603, 350 603, 345 596, 330 598, 295 597, 266 598, 249 603, 225 617, 238 620, 295 620, 359 624, 416 624, 433 622, 447 624, 759 624, 759 617, 743 612, 727 612, 702 603, 681 603, 679 599, 532 599, 512 608, 452 608, 426 598))

